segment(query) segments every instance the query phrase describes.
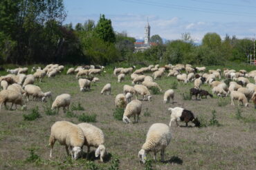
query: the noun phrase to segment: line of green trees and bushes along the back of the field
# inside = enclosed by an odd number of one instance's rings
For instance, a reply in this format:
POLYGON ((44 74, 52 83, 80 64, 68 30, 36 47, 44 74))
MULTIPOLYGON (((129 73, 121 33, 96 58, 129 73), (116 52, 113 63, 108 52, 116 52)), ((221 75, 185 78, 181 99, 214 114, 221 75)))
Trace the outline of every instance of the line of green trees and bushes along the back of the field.
POLYGON ((134 52, 136 39, 126 32, 114 32, 111 20, 100 15, 97 23, 64 24, 63 0, 0 1, 0 64, 71 63, 100 64, 123 62, 190 63, 221 65, 226 61, 247 61, 254 55, 255 41, 208 33, 202 43, 194 43, 189 33, 181 39, 163 42, 151 37, 153 45, 134 52))

